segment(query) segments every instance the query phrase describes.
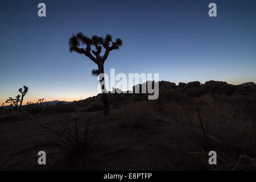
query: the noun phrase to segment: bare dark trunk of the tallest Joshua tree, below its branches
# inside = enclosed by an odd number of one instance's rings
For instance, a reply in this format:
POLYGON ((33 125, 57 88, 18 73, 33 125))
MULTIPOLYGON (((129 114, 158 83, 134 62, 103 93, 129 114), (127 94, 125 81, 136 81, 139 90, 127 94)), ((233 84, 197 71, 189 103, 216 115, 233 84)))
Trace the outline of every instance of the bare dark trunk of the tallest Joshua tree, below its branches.
MULTIPOLYGON (((98 63, 98 71, 100 74, 104 73, 104 63, 98 63)), ((109 114, 109 102, 108 102, 108 96, 106 94, 104 74, 100 75, 100 84, 101 84, 101 92, 102 92, 102 102, 104 104, 104 114, 109 114)))

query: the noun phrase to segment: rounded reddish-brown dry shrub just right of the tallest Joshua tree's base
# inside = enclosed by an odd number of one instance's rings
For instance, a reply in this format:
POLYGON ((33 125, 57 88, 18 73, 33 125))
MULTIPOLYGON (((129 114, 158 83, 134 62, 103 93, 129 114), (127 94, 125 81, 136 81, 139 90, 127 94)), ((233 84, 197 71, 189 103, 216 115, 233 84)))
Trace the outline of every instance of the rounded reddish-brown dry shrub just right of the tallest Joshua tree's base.
POLYGON ((132 102, 121 107, 116 118, 119 127, 138 129, 154 125, 152 109, 147 101, 132 102))

